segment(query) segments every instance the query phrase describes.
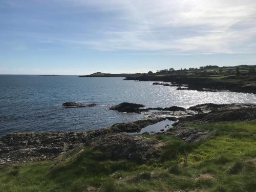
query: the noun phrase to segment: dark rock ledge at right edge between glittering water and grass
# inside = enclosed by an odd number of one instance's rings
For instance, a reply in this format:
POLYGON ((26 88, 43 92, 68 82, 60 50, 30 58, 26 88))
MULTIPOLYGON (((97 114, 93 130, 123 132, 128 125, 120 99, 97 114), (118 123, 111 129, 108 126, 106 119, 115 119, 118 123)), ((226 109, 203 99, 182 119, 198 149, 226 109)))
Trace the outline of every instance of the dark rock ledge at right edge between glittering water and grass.
POLYGON ((218 121, 244 121, 256 118, 256 108, 240 108, 232 110, 211 111, 193 116, 180 118, 180 122, 200 121, 200 122, 218 122, 218 121))

